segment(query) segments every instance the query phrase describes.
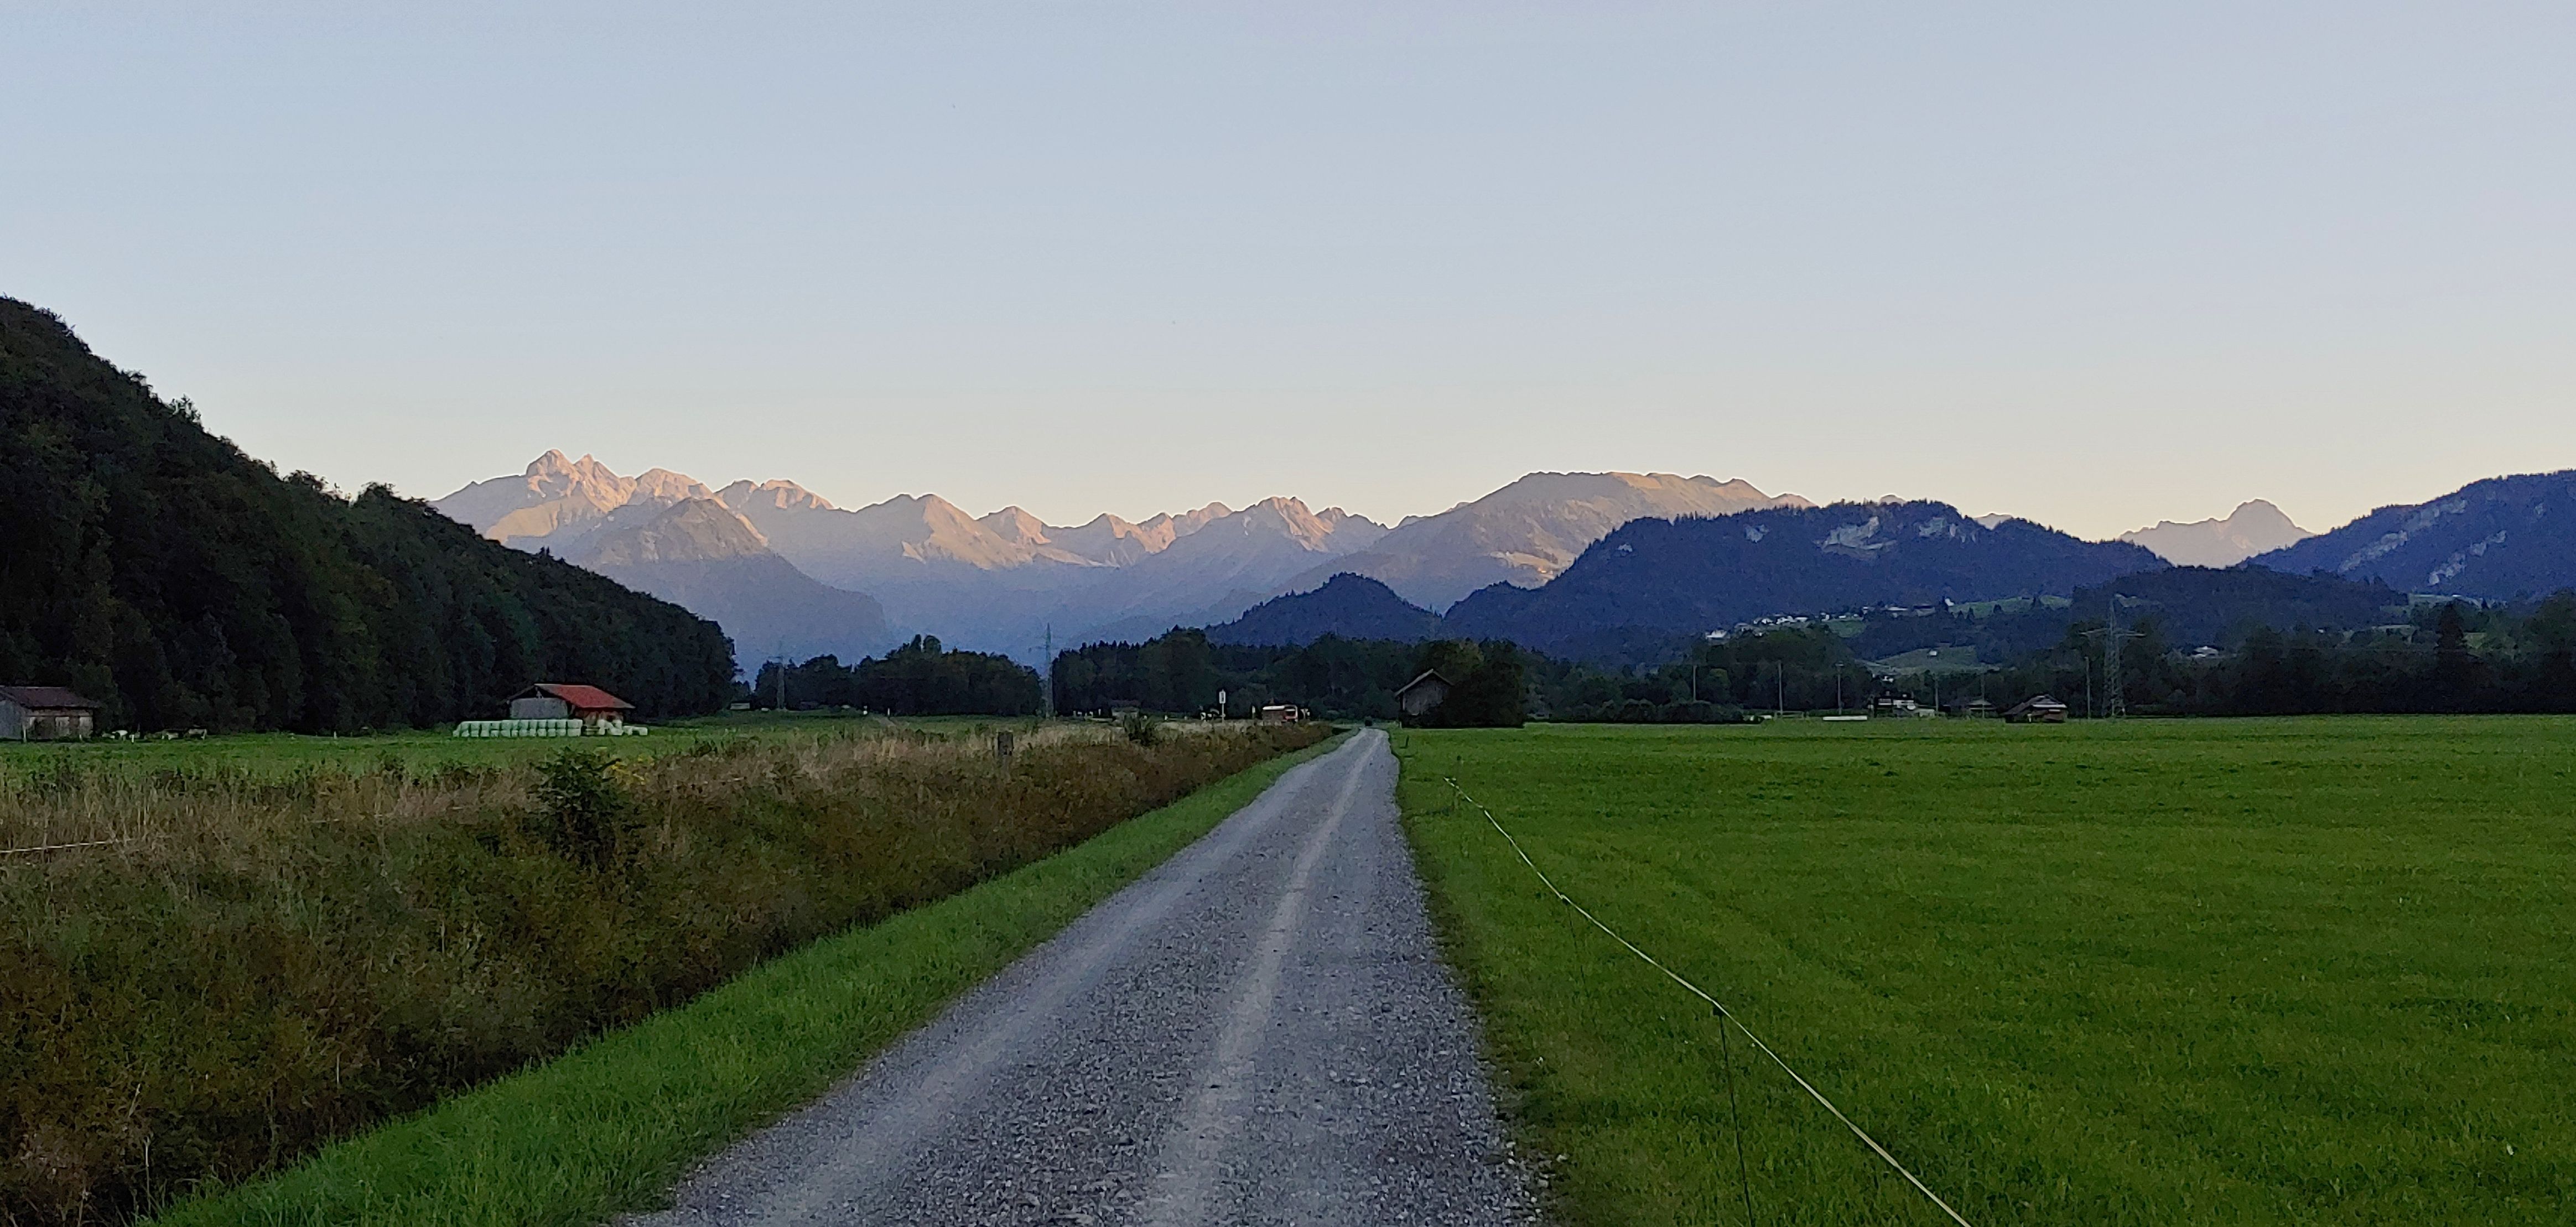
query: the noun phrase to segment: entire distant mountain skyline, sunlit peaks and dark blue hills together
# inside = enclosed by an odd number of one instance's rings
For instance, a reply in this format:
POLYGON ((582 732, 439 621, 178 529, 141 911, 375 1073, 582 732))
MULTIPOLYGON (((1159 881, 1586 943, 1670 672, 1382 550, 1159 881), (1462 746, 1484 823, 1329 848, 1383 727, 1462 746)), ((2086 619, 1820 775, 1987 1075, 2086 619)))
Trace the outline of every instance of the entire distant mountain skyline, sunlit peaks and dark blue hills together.
POLYGON ((1770 614, 2069 595, 2166 565, 2329 572, 2509 598, 2576 583, 2576 474, 2499 477, 2311 536, 2272 503, 2081 541, 1947 503, 1819 508, 1741 479, 1535 472, 1394 528, 1296 498, 1054 526, 938 495, 837 508, 796 482, 621 477, 592 456, 435 503, 719 621, 737 660, 845 660, 930 632, 1038 660, 1170 626, 1270 644, 1319 634, 1510 637, 1620 660, 1770 614), (2555 508, 2555 516, 2553 516, 2555 508))

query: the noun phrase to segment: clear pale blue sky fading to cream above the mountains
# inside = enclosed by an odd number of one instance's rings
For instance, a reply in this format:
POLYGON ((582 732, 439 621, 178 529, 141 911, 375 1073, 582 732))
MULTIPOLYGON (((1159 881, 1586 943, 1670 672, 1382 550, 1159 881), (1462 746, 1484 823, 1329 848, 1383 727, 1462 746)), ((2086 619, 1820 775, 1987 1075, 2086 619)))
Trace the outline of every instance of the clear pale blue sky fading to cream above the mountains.
POLYGON ((2576 5, 5 3, 0 294, 350 490, 2326 528, 2576 467, 2576 5))

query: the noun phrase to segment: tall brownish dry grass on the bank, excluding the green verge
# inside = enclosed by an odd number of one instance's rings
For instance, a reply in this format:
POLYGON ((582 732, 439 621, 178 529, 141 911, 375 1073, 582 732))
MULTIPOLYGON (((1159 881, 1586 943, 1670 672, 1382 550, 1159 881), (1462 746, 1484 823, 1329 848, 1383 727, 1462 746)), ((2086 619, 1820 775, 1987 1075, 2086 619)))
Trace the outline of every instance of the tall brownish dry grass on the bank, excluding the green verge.
POLYGON ((1321 735, 0 776, 0 848, 116 840, 0 856, 0 1222, 258 1173, 1321 735))

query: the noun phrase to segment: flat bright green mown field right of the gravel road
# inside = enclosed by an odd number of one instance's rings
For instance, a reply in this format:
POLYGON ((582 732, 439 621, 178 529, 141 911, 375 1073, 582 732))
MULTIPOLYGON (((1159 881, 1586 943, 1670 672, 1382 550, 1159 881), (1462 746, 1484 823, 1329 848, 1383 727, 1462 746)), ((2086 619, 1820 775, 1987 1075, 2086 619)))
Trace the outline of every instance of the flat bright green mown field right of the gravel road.
MULTIPOLYGON (((1692 977, 1978 1224, 2576 1217, 2576 722, 1404 732, 1577 1224, 1744 1222, 1692 977)), ((1757 1222, 1947 1222, 1734 1041, 1757 1222)))

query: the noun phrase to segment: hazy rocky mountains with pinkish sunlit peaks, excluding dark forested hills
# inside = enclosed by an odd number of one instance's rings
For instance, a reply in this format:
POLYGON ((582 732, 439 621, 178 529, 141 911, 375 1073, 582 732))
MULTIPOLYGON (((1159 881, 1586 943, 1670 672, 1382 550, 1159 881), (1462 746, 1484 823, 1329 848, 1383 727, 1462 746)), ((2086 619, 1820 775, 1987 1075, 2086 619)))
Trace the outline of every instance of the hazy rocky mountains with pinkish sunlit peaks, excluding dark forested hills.
POLYGON ((1396 528, 1296 498, 1051 526, 1023 508, 969 516, 938 495, 845 510, 796 482, 708 487, 670 469, 623 477, 592 456, 549 451, 515 477, 466 485, 435 505, 495 541, 551 552, 716 619, 744 660, 853 657, 912 632, 1036 660, 1048 637, 1146 639, 1175 624, 1218 624, 1342 572, 1445 608, 1494 583, 1548 583, 1641 516, 1808 503, 1747 482, 1607 472, 1528 474, 1396 528), (665 523, 672 516, 688 526, 665 523))

